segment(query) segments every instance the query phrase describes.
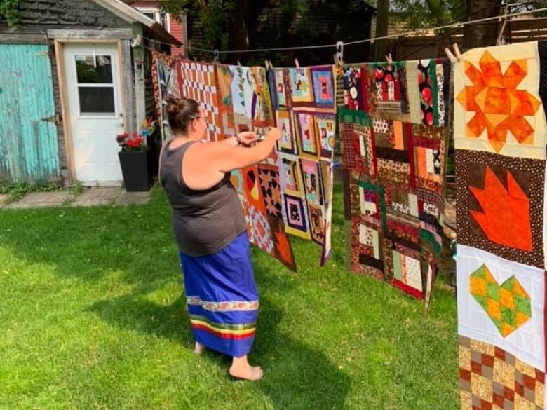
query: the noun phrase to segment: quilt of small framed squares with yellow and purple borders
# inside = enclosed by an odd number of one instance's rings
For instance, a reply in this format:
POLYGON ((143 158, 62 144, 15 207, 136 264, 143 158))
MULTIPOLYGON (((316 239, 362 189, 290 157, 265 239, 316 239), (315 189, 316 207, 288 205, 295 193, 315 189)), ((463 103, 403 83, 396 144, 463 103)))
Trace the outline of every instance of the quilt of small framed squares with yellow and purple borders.
POLYGON ((275 123, 285 230, 330 256, 332 159, 336 129, 334 66, 268 71, 275 123))

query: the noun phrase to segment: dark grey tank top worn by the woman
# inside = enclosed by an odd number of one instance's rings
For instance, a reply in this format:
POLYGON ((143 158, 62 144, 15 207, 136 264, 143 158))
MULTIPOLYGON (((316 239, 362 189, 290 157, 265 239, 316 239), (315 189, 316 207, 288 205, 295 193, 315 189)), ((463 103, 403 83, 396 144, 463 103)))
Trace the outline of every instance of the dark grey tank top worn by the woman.
POLYGON ((182 161, 191 141, 161 154, 160 182, 173 207, 173 231, 180 252, 203 257, 222 250, 247 230, 243 207, 230 172, 210 189, 196 191, 184 183, 182 161))

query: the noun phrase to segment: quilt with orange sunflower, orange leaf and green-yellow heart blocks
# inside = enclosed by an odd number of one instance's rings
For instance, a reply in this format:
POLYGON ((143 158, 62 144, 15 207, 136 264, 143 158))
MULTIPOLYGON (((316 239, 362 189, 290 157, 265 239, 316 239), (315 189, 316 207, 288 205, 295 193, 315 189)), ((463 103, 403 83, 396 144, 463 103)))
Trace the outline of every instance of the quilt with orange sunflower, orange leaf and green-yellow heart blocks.
POLYGON ((454 64, 461 409, 545 409, 547 43, 454 64))

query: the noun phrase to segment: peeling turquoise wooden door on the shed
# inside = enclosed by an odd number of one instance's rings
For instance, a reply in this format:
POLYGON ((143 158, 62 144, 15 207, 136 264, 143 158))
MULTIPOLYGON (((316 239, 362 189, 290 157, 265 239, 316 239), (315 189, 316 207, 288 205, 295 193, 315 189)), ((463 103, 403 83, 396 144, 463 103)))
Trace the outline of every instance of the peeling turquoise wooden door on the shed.
POLYGON ((60 180, 46 45, 0 44, 0 184, 60 180))

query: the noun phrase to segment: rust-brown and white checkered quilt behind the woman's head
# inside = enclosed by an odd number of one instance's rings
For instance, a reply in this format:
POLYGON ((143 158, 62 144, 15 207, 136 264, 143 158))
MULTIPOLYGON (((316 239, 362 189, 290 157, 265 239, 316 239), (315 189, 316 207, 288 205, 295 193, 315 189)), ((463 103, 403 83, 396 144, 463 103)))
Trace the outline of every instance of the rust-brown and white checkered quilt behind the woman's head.
POLYGON ((199 102, 205 111, 207 140, 219 141, 223 139, 215 64, 183 60, 180 62, 180 76, 182 78, 182 95, 199 102))

